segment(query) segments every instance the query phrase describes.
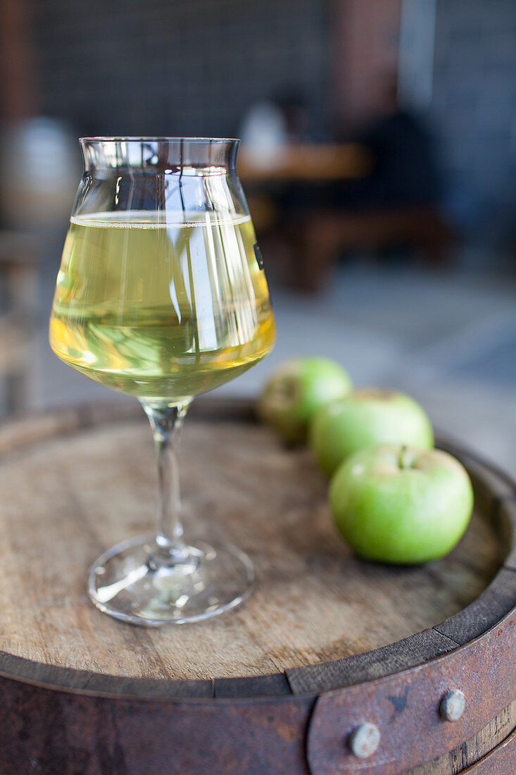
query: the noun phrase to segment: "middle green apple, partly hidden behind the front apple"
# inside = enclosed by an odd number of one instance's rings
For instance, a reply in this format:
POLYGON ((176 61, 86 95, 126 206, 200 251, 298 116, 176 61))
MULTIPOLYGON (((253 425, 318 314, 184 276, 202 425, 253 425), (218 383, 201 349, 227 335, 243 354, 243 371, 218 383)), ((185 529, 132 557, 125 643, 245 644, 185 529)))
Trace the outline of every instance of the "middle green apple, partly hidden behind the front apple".
POLYGON ((363 387, 321 408, 311 424, 311 449, 328 477, 347 456, 381 444, 434 446, 432 425, 414 398, 363 387))

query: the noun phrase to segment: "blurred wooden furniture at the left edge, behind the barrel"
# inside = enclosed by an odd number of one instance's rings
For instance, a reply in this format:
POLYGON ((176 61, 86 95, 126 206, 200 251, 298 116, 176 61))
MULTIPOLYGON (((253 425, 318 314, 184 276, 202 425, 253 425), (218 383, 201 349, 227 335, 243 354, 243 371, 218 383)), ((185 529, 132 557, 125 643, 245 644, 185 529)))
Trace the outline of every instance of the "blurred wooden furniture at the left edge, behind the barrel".
POLYGON ((0 231, 0 383, 2 409, 20 412, 29 398, 37 299, 36 245, 0 231))

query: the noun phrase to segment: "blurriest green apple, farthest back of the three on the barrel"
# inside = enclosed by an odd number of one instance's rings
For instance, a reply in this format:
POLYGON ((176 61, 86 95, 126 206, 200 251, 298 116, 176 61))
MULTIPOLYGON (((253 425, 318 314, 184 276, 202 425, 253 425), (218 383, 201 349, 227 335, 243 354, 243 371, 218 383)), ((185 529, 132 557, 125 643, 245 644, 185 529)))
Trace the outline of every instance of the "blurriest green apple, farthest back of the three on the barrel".
POLYGON ((308 423, 319 408, 352 389, 349 374, 335 360, 302 357, 287 360, 270 375, 257 414, 288 444, 306 440, 308 423))

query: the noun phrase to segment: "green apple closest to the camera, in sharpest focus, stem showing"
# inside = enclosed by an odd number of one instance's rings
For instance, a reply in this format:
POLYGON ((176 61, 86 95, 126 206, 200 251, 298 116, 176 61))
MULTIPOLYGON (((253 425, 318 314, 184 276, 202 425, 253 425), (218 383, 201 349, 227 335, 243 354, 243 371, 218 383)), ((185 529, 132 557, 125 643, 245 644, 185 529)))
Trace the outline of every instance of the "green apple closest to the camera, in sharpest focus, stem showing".
POLYGON ((470 477, 439 449, 362 449, 330 484, 335 524, 356 554, 383 563, 437 560, 463 536, 473 509, 470 477))

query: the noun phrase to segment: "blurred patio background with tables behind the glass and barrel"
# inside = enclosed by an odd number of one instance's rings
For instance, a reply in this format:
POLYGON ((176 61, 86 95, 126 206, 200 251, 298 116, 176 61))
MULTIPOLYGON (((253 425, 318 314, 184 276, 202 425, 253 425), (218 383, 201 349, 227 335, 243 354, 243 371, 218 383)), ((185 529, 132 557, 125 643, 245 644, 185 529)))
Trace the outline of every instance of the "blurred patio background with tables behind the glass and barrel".
MULTIPOLYGON (((0 413, 121 400, 47 344, 82 135, 241 136, 278 341, 516 472, 514 0, 0 0, 0 413)), ((222 389, 221 389, 222 390, 222 389)))

